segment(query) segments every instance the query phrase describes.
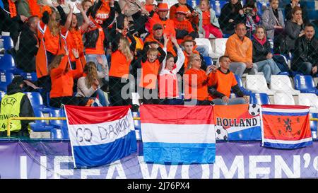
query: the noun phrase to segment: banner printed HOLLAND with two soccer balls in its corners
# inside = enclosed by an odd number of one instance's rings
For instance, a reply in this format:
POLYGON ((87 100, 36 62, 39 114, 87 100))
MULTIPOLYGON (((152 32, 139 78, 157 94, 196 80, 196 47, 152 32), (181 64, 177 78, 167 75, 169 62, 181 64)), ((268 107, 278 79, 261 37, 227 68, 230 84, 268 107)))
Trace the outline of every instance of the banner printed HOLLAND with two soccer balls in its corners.
POLYGON ((260 105, 214 105, 216 139, 261 140, 260 105))

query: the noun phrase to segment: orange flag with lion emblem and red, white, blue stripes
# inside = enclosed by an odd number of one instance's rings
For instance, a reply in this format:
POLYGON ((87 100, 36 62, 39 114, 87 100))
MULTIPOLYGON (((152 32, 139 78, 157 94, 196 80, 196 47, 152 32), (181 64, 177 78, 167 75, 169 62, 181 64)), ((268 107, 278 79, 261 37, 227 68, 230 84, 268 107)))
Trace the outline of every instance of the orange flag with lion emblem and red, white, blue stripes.
POLYGON ((301 148, 312 144, 307 106, 261 105, 262 146, 301 148))

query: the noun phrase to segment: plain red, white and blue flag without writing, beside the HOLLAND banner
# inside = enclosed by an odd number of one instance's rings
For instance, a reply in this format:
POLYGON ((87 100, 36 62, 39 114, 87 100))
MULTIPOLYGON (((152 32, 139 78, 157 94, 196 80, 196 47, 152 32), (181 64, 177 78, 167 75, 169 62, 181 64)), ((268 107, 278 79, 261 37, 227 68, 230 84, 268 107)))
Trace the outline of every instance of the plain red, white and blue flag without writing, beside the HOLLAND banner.
POLYGON ((141 105, 140 112, 146 162, 215 162, 213 106, 141 105))

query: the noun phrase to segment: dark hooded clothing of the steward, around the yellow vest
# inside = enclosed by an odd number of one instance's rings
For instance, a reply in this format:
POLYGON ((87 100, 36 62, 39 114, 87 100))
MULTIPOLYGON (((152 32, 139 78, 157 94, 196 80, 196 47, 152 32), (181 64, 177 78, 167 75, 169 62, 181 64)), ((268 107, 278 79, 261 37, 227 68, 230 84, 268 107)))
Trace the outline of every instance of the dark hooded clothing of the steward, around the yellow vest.
MULTIPOLYGON (((13 95, 16 93, 22 93, 21 88, 15 83, 9 84, 6 94, 13 95)), ((33 112, 33 107, 27 95, 23 95, 21 99, 19 116, 20 117, 35 117, 33 112)), ((21 121, 21 131, 25 131, 25 132, 28 131, 29 122, 33 122, 33 121, 29 121, 29 120, 21 121)))

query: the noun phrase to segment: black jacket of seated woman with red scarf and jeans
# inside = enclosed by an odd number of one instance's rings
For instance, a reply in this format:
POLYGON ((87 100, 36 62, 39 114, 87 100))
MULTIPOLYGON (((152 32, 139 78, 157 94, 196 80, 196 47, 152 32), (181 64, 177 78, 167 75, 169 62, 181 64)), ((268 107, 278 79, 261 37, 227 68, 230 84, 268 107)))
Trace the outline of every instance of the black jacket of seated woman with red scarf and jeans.
POLYGON ((259 43, 254 37, 252 42, 253 42, 253 62, 266 60, 267 54, 271 52, 271 45, 269 44, 269 40, 266 40, 264 45, 261 45, 261 43, 259 43))

